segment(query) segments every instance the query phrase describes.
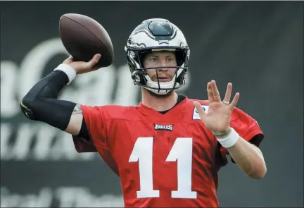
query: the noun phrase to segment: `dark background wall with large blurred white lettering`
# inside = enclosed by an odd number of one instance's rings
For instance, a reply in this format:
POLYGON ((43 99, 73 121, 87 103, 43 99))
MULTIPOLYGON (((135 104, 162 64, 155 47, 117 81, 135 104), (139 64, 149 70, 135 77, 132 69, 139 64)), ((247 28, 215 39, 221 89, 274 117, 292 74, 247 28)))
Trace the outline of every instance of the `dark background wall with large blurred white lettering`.
MULTIPOLYGON (((303 207, 303 2, 19 1, 1 9, 1 207, 122 207, 120 181, 97 153, 77 154, 72 138, 20 114, 20 99, 67 57, 63 13, 81 13, 108 31, 115 62, 80 75, 61 99, 138 104, 124 46, 147 18, 167 18, 189 46, 186 96, 207 99, 206 83, 227 82, 255 118, 267 175, 253 181, 235 164, 220 171, 222 207, 303 207)), ((50 109, 51 110, 51 109, 50 109)))

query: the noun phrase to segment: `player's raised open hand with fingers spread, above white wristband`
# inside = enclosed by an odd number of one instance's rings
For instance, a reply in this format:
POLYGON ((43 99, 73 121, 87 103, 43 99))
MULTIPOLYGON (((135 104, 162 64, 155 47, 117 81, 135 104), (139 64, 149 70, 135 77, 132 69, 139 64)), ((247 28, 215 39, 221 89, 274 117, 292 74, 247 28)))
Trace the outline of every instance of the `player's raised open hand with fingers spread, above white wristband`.
POLYGON ((198 110, 198 114, 205 127, 216 134, 225 133, 229 129, 232 110, 239 101, 239 92, 234 95, 231 104, 229 102, 232 94, 232 83, 228 83, 223 101, 221 101, 220 92, 217 90, 215 80, 208 82, 207 92, 209 101, 208 112, 205 113, 201 104, 196 101, 194 102, 194 106, 198 110))

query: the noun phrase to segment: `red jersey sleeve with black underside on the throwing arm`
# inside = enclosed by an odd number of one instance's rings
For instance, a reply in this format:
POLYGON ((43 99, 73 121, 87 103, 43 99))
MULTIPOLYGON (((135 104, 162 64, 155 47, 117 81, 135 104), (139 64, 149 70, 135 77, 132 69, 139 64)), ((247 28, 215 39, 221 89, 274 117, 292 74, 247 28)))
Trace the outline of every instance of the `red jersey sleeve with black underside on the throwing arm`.
POLYGON ((106 112, 103 106, 80 105, 84 122, 89 132, 89 138, 73 136, 77 152, 99 152, 106 147, 106 112))

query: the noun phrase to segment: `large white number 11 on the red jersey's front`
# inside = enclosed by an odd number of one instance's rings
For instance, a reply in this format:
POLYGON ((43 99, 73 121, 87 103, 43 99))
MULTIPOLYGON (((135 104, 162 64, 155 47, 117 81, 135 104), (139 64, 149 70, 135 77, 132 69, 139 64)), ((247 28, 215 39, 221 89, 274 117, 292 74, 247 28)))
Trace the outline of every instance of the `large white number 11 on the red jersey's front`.
MULTIPOLYGON (((172 190, 172 198, 196 199, 192 187, 192 138, 178 137, 165 161, 177 161, 177 190, 172 190)), ((139 163, 140 190, 138 198, 159 197, 160 191, 153 190, 153 137, 139 137, 134 144, 129 162, 139 163)))

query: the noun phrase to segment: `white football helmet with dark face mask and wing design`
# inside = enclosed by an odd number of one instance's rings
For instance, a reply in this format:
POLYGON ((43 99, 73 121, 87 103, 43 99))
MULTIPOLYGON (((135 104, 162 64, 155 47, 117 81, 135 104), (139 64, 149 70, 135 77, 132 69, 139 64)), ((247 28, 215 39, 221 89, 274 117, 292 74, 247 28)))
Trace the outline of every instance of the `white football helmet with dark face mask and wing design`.
MULTIPOLYGON (((167 94, 171 90, 185 85, 190 49, 182 31, 169 20, 161 18, 144 20, 129 36, 125 51, 135 85, 156 94, 167 94), (177 67, 174 68, 177 70, 170 82, 160 82, 159 80, 153 82, 146 73, 146 70, 150 68, 144 68, 141 59, 144 54, 151 51, 175 51, 177 67)), ((172 67, 158 67, 156 75, 159 68, 172 67)))

